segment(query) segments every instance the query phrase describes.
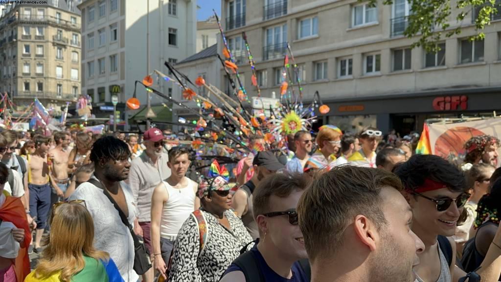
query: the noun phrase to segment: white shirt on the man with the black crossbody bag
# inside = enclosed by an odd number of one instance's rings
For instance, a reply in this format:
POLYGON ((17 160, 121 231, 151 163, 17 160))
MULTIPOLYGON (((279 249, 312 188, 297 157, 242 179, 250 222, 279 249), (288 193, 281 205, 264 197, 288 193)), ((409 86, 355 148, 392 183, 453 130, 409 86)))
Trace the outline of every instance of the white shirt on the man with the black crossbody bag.
MULTIPOLYGON (((95 176, 93 175, 92 178, 95 176)), ((120 184, 129 210, 127 219, 133 225, 137 211, 133 204, 132 191, 127 184, 123 182, 120 184)), ((139 276, 133 268, 134 240, 103 190, 84 182, 78 186, 69 200, 85 200, 85 205, 94 220, 94 246, 110 254, 126 282, 136 282, 139 276)))

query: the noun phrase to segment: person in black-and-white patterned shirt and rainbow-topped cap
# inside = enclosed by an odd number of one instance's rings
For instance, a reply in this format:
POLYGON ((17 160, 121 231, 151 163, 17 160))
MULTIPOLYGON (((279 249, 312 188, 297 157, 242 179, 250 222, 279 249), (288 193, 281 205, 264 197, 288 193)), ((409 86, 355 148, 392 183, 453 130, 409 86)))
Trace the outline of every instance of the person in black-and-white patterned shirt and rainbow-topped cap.
POLYGON ((198 188, 201 208, 177 234, 169 282, 218 281, 240 249, 253 240, 230 209, 235 184, 228 183, 226 169, 213 163, 209 177, 198 188))

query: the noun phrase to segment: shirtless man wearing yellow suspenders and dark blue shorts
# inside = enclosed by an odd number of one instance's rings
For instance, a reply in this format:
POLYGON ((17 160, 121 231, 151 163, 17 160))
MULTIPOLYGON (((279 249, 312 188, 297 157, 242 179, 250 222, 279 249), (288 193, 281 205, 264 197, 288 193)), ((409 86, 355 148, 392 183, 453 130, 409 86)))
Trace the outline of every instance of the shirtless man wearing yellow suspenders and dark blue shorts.
MULTIPOLYGON (((30 215, 34 218, 36 217, 37 222, 34 251, 40 253, 42 251, 40 242, 47 225, 47 218, 51 207, 51 170, 47 156, 51 140, 42 135, 36 135, 33 140, 35 142, 36 151, 35 154, 28 156, 28 168, 25 174, 25 182, 28 183, 30 215)), ((52 181, 52 186, 60 190, 54 181, 52 181)), ((59 192, 61 192, 61 190, 59 192)), ((59 192, 58 194, 60 194, 59 192)), ((63 194, 60 194, 60 196, 62 195, 63 194)))

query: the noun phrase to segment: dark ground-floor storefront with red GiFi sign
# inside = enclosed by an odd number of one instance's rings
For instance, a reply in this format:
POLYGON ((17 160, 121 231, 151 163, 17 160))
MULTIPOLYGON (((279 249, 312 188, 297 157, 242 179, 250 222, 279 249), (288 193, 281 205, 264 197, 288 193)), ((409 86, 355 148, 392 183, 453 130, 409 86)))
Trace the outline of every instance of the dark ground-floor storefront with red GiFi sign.
POLYGON ((331 111, 326 122, 349 132, 376 126, 384 133, 392 128, 400 135, 421 131, 428 118, 492 116, 501 110, 501 88, 453 89, 324 100, 331 111))

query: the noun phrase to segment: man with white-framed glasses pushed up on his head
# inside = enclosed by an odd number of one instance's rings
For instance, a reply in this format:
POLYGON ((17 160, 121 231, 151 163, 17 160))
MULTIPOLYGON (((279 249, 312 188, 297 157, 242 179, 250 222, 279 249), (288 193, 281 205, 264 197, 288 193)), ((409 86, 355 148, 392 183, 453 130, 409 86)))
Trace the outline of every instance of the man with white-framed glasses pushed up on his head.
POLYGON ((376 149, 382 136, 383 132, 374 127, 364 129, 358 136, 362 149, 348 158, 348 164, 356 167, 376 168, 376 149))

